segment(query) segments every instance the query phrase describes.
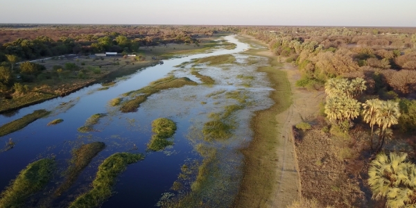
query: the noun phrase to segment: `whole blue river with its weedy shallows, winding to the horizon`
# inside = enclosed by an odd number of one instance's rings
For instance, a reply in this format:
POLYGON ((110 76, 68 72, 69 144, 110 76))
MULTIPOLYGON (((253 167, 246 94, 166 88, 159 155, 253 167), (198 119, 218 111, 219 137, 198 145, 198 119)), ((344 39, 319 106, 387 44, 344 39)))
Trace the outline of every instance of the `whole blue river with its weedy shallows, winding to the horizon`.
MULTIPOLYGON (((0 153, 0 189, 3 191, 30 162, 55 156, 58 171, 62 172, 68 166, 73 148, 92 141, 103 141, 106 148, 94 157, 75 184, 53 202, 53 207, 67 207, 76 196, 87 191, 103 159, 119 152, 144 153, 146 158, 130 164, 119 175, 114 195, 102 207, 154 207, 158 202, 161 205, 168 200, 180 201, 186 197, 193 198, 189 202, 198 202, 198 205, 206 207, 229 207, 241 182, 243 155, 239 149, 252 139, 250 120, 254 112, 272 105, 268 98, 272 89, 266 74, 256 71, 257 67, 268 64, 267 59, 240 53, 249 47, 248 44, 239 42, 232 35, 224 38, 236 44, 236 49, 216 49, 212 53, 165 60, 162 65, 149 66, 117 79, 109 89, 98 90, 102 86, 96 84, 63 98, 25 107, 14 114, 0 115, 0 125, 3 125, 33 110, 52 111, 49 116, 26 128, 0 137, 0 148, 9 138, 15 141, 14 148, 0 153), (223 54, 234 55, 236 61, 214 66, 189 63, 175 67, 193 59, 223 54), (205 85, 191 75, 191 71, 209 76, 215 83, 205 85), (168 75, 187 77, 198 85, 165 89, 153 94, 141 103, 137 112, 122 113, 118 107, 108 105, 112 98, 146 87, 150 82, 168 75), (227 123, 232 126, 231 137, 207 141, 202 134, 204 124, 215 115, 223 114, 230 105, 240 107, 227 117, 227 123), (77 132, 89 116, 97 113, 107 116, 94 125, 96 131, 77 132), (174 145, 159 152, 146 151, 146 144, 153 135, 151 122, 159 117, 177 123, 174 145), (63 119, 64 122, 47 126, 53 119, 63 119), (183 172, 181 167, 184 165, 194 168, 194 171, 187 178, 180 178, 178 176, 183 172), (205 174, 202 176, 205 180, 197 187, 193 182, 201 166, 204 166, 205 174), (182 184, 180 189, 171 189, 174 182, 182 184)), ((62 180, 59 174, 55 175, 53 182, 42 193, 33 196, 33 206, 40 205, 42 198, 56 189, 62 180)))

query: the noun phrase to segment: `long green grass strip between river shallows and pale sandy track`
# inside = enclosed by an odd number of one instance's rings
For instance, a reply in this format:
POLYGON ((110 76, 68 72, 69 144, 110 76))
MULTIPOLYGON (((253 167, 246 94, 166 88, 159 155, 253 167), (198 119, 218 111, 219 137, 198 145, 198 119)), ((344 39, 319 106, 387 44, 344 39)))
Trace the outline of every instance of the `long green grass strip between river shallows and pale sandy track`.
MULTIPOLYGON (((256 55, 253 53, 253 55, 256 55)), ((247 148, 242 150, 245 160, 239 193, 234 200, 233 207, 267 207, 265 198, 273 193, 275 184, 279 180, 276 177, 277 161, 276 148, 279 142, 276 140, 277 122, 275 116, 284 112, 292 103, 291 84, 285 71, 278 70, 281 66, 277 57, 268 56, 269 67, 258 67, 260 72, 266 72, 272 88, 270 98, 275 104, 266 110, 255 113, 250 123, 254 131, 254 138, 247 148)))

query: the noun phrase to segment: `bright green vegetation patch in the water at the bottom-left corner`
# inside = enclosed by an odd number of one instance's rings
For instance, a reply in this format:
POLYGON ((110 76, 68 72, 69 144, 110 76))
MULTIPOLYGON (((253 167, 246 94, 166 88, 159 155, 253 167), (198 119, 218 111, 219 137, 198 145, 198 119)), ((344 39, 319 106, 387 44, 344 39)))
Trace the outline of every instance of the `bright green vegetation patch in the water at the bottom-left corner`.
POLYGON ((44 158, 28 164, 16 180, 0 195, 0 207, 24 207, 28 196, 40 191, 49 182, 55 160, 44 158))

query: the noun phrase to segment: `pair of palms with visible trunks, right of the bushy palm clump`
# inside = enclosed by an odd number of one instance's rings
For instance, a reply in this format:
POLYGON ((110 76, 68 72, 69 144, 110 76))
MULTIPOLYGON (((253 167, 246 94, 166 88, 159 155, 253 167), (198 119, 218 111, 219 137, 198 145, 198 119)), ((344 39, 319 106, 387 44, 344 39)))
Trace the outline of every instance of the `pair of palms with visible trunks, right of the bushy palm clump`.
POLYGON ((376 135, 379 136, 376 151, 379 152, 383 147, 385 139, 391 139, 391 125, 399 123, 400 109, 399 103, 395 101, 381 101, 370 99, 363 103, 363 120, 371 127, 371 148, 373 148, 374 125, 378 125, 376 135))

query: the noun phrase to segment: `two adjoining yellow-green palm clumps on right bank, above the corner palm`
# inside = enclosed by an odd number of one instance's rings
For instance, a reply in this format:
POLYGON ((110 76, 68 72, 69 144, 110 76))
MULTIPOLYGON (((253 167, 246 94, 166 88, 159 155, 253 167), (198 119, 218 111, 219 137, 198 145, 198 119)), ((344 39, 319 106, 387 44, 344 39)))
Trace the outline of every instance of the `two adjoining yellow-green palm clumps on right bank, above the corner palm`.
POLYGON ((357 96, 363 93, 367 87, 363 78, 348 80, 346 78, 331 78, 325 83, 327 102, 325 104, 325 114, 330 121, 340 124, 352 119, 356 119, 360 114, 363 120, 371 127, 371 148, 373 148, 374 125, 378 125, 376 135, 379 140, 376 146, 377 152, 383 147, 385 139, 392 137, 391 125, 399 123, 400 116, 399 103, 395 101, 381 101, 370 99, 365 103, 356 100, 357 96), (363 111, 361 111, 361 105, 363 111))

